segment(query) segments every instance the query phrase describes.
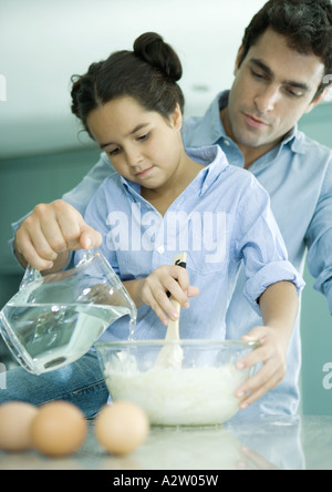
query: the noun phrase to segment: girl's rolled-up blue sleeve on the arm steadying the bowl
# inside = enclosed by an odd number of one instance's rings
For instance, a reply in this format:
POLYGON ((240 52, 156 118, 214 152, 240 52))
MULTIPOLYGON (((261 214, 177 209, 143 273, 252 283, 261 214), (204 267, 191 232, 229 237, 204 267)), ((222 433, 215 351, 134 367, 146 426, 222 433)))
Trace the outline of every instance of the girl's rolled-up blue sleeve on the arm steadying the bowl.
POLYGON ((243 296, 260 315, 258 299, 270 285, 291 281, 300 294, 305 284, 288 260, 270 197, 253 177, 242 201, 239 224, 241 239, 237 250, 245 263, 247 278, 243 296))

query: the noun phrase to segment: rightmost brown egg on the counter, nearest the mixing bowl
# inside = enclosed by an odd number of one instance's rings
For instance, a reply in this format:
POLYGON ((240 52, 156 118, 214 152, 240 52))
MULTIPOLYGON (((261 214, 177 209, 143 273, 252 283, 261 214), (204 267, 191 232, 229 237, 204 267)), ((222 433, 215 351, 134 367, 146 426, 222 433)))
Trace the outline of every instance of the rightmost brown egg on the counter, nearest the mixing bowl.
POLYGON ((116 401, 102 409, 95 420, 95 437, 110 453, 124 455, 146 440, 149 422, 134 403, 116 401))

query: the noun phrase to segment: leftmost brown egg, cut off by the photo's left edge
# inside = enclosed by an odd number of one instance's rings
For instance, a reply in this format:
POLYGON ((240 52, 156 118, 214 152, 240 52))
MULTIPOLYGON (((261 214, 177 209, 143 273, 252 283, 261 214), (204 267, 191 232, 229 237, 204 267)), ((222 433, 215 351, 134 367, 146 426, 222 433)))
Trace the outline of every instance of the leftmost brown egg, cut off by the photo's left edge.
POLYGON ((31 448, 31 423, 38 409, 21 401, 0 406, 0 449, 21 452, 31 448))

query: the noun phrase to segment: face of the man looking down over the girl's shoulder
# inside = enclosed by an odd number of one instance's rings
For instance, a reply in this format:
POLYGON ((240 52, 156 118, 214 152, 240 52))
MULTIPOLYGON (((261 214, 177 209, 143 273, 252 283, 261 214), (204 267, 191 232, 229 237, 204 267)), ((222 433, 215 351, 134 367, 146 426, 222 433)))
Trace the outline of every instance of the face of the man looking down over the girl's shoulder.
POLYGON ((287 39, 268 29, 239 66, 229 95, 227 123, 230 136, 247 147, 273 147, 313 101, 324 74, 314 54, 290 49, 287 39))

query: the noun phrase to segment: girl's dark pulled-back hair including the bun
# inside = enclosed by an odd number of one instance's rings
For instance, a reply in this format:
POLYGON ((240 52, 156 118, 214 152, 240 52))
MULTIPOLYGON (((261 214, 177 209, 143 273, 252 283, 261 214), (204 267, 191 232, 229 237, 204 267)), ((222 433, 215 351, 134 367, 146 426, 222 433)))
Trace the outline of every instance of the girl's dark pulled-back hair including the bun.
POLYGON ((93 63, 85 75, 72 76, 72 112, 86 125, 96 107, 122 96, 134 98, 145 110, 168 119, 185 98, 177 81, 183 75, 178 55, 159 34, 147 32, 136 39, 134 51, 117 51, 93 63))

